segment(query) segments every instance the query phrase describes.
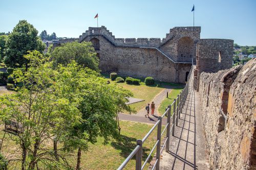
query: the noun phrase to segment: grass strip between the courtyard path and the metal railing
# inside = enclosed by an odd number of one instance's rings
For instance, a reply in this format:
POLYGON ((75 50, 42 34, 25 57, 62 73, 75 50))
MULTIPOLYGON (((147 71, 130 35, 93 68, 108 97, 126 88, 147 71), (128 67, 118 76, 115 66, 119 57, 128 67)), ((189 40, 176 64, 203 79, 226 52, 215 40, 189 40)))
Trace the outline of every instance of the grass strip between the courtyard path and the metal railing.
MULTIPOLYGON (((165 98, 158 108, 159 114, 163 114, 165 112, 165 108, 173 103, 174 99, 177 98, 177 95, 182 91, 182 89, 182 87, 177 87, 176 89, 172 89, 172 91, 170 91, 168 98, 165 98)), ((171 113, 173 113, 173 107, 171 113)))

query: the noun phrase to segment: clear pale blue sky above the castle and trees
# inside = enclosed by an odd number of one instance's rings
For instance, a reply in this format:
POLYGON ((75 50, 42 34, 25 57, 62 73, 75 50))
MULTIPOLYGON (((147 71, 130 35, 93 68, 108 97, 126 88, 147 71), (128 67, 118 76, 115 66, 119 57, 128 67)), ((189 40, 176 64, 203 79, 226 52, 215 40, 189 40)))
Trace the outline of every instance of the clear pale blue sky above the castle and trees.
POLYGON ((0 32, 28 20, 40 33, 79 37, 88 27, 105 26, 116 38, 163 38, 170 28, 201 26, 201 38, 233 39, 256 45, 255 0, 0 0, 0 32))

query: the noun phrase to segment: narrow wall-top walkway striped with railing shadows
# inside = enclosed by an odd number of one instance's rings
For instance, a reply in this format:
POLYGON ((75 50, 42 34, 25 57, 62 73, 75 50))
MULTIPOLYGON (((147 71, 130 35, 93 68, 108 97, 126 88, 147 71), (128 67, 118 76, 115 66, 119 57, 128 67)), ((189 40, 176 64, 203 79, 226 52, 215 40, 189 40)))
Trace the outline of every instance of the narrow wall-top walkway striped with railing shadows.
POLYGON ((170 137, 169 152, 162 153, 160 169, 209 169, 202 127, 199 96, 190 86, 175 135, 170 137))

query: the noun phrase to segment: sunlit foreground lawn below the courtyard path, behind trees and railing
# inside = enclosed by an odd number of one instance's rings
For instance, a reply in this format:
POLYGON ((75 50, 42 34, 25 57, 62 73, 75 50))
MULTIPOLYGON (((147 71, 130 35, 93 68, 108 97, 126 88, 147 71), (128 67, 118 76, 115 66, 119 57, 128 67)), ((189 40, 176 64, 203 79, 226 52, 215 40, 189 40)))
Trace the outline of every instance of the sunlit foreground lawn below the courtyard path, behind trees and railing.
MULTIPOLYGON (((89 144, 88 151, 81 154, 81 169, 117 169, 136 147, 136 140, 142 139, 152 126, 150 124, 120 121, 121 140, 112 140, 108 144, 103 144, 103 139, 99 137, 97 143, 89 144)), ((143 143, 143 160, 146 159, 156 142, 156 130, 143 143)), ((3 137, 3 133, 1 131, 0 138, 3 137)), ((12 153, 14 154, 12 158, 20 158, 21 153, 16 151, 15 142, 4 140, 3 145, 2 152, 4 155, 12 153)), ((76 152, 68 160, 75 167, 76 152)), ((148 166, 149 163, 144 169, 147 169, 148 166)), ((14 169, 14 167, 9 169, 14 169)), ((125 169, 135 169, 135 157, 126 165, 125 169)))

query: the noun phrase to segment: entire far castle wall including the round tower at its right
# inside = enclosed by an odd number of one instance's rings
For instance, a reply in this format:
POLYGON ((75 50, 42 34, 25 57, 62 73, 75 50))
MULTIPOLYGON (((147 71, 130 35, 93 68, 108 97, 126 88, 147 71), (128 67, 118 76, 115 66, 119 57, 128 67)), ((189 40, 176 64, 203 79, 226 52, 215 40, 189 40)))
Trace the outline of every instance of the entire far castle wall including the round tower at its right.
POLYGON ((79 42, 93 43, 103 73, 117 72, 137 78, 150 76, 158 81, 185 83, 196 58, 202 59, 197 62, 201 70, 198 75, 206 68, 216 72, 232 64, 233 40, 200 39, 200 32, 201 27, 175 27, 162 40, 115 38, 101 26, 89 27, 79 36, 79 42))

